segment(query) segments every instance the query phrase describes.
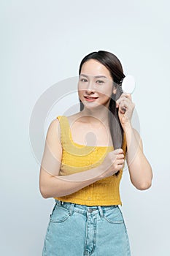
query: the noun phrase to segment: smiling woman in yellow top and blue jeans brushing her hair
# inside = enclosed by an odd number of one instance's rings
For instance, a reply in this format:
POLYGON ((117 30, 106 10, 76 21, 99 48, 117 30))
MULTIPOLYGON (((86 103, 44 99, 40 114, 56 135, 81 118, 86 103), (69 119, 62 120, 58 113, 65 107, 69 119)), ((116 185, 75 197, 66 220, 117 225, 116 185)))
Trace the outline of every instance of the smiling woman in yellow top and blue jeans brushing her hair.
POLYGON ((125 158, 137 189, 152 182, 142 140, 131 126, 134 103, 121 91, 125 75, 114 54, 88 54, 79 75, 81 111, 58 116, 47 131, 39 187, 55 206, 42 255, 129 256, 119 207, 125 158))

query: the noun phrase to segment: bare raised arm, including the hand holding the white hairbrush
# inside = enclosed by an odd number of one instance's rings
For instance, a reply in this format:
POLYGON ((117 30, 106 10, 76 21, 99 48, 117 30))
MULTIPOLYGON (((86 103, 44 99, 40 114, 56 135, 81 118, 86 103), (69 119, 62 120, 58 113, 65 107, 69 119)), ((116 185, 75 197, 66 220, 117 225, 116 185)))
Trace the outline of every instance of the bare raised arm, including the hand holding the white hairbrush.
POLYGON ((148 189, 152 184, 152 168, 144 156, 142 139, 131 126, 134 103, 130 94, 122 94, 117 100, 119 118, 127 142, 127 163, 131 182, 137 189, 148 189))

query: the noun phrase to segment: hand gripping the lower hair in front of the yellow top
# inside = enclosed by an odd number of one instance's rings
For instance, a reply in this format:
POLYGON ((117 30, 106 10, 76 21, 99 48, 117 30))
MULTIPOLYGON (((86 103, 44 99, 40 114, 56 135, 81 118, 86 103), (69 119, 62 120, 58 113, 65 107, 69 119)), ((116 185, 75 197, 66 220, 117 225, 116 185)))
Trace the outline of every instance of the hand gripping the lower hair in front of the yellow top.
POLYGON ((107 154, 101 163, 101 175, 99 178, 107 178, 121 170, 124 165, 124 152, 122 148, 115 149, 107 154))

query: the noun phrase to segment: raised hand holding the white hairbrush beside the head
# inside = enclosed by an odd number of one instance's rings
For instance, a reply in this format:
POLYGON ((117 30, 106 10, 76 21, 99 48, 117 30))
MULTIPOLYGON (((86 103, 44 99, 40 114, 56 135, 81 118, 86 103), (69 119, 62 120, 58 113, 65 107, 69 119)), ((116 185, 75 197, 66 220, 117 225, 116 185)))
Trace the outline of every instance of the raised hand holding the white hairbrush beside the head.
POLYGON ((118 115, 123 129, 131 125, 131 117, 134 111, 134 102, 131 100, 131 94, 121 94, 116 101, 116 108, 119 108, 118 115))

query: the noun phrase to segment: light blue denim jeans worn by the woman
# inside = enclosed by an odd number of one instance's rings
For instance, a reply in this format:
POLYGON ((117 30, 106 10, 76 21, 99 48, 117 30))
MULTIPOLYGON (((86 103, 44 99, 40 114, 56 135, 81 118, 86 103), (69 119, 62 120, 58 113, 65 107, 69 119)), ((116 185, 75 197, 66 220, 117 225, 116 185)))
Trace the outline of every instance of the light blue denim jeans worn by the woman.
POLYGON ((131 256, 119 206, 82 206, 55 200, 42 256, 131 256))

